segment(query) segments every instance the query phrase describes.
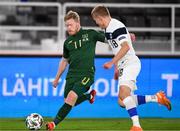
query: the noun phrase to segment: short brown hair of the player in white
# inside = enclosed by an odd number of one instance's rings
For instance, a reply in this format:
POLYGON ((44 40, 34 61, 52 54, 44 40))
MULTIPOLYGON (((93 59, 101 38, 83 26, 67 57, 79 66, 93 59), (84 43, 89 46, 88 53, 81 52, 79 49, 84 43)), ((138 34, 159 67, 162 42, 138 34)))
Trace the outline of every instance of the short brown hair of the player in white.
POLYGON ((98 5, 98 6, 94 7, 94 9, 91 11, 91 15, 93 17, 96 17, 96 16, 104 17, 104 16, 110 16, 110 13, 109 13, 108 8, 106 8, 103 5, 98 5))

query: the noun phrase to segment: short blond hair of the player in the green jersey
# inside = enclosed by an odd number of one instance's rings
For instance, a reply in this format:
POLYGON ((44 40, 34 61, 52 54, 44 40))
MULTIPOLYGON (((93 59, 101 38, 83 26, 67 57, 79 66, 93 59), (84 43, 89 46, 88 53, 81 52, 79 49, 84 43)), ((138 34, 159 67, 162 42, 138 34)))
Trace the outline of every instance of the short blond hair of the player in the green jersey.
POLYGON ((67 21, 69 19, 74 19, 76 22, 80 21, 79 14, 75 11, 68 11, 68 13, 64 16, 64 21, 67 21))

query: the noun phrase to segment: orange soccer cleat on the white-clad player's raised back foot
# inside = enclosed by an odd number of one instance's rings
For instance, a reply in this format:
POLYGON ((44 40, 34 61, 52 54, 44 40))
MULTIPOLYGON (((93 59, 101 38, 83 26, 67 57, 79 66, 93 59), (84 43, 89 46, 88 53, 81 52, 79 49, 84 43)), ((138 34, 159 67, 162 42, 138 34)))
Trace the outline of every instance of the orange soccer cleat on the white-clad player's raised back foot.
POLYGON ((156 96, 158 98, 158 103, 166 106, 167 109, 170 111, 171 110, 171 102, 166 97, 165 93, 163 91, 159 91, 158 93, 156 93, 156 96))

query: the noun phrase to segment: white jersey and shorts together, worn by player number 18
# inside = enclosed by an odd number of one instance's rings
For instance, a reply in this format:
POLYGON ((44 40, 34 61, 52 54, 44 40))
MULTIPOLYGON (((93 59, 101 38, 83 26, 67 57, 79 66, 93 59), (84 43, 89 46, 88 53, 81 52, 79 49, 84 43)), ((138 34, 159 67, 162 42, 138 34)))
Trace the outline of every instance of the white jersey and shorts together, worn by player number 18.
POLYGON ((123 42, 126 41, 128 43, 130 50, 118 61, 119 86, 126 85, 130 87, 131 91, 136 90, 136 78, 140 72, 141 63, 132 47, 131 37, 128 30, 122 22, 116 19, 111 19, 105 30, 105 36, 114 55, 119 52, 123 42))

